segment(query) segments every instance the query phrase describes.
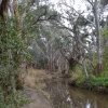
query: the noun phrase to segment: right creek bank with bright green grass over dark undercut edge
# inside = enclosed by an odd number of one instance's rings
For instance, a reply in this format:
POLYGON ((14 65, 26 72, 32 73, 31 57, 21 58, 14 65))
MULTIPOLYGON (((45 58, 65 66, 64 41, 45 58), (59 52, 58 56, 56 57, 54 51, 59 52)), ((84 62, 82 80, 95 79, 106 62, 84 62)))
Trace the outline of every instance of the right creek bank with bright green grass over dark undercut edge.
POLYGON ((108 93, 108 77, 92 75, 86 79, 84 75, 80 75, 77 79, 70 80, 69 84, 81 89, 108 93))

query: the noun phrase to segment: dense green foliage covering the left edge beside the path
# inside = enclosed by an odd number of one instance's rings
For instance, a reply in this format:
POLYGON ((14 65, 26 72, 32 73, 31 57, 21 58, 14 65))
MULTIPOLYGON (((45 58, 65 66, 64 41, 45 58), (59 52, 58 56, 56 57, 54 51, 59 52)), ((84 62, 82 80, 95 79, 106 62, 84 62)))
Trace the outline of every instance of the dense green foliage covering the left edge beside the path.
MULTIPOLYGON (((0 23, 0 106, 17 108, 16 76, 22 71, 19 66, 30 58, 27 38, 18 30, 15 18, 0 23)), ((1 107, 0 107, 1 108, 1 107)))

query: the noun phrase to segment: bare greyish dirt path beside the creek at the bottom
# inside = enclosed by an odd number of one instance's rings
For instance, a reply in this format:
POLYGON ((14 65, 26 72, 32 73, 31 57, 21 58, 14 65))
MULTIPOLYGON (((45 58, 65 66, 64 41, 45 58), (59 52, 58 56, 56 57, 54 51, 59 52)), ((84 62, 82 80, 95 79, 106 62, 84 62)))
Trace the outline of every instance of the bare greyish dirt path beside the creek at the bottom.
POLYGON ((51 103, 41 93, 29 89, 25 89, 25 91, 29 94, 32 103, 22 108, 52 108, 51 103))

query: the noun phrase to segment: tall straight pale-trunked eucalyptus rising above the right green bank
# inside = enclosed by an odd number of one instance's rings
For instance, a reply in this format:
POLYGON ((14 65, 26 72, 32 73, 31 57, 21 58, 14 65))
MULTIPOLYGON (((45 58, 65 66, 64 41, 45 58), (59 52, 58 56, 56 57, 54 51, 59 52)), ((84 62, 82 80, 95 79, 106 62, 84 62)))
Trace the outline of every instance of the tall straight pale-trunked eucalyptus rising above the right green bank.
POLYGON ((97 43, 97 75, 100 75, 102 72, 102 40, 100 40, 100 26, 99 26, 99 13, 98 13, 98 1, 90 1, 87 2, 91 3, 93 8, 93 13, 94 13, 94 19, 95 19, 95 30, 96 30, 96 43, 97 43))

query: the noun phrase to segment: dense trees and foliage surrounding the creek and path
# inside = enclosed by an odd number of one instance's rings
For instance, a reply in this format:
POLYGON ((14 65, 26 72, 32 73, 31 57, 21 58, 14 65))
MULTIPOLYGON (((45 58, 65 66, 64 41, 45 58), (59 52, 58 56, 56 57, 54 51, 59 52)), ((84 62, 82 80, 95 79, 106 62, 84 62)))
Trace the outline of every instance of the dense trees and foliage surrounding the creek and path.
POLYGON ((27 102, 18 90, 29 66, 108 91, 108 1, 83 0, 84 10, 70 1, 0 1, 0 107, 27 102))

